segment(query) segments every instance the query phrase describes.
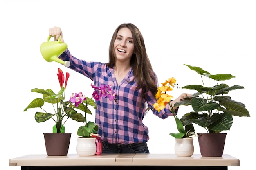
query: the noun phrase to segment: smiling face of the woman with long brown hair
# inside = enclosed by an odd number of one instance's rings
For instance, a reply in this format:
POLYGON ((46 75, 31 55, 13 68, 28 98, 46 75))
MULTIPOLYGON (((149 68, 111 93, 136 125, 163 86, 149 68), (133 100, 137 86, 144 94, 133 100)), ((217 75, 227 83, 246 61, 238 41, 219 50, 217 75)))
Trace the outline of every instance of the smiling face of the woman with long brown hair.
POLYGON ((114 41, 114 51, 117 61, 129 61, 134 53, 134 43, 132 32, 129 28, 121 28, 117 32, 117 37, 114 41))

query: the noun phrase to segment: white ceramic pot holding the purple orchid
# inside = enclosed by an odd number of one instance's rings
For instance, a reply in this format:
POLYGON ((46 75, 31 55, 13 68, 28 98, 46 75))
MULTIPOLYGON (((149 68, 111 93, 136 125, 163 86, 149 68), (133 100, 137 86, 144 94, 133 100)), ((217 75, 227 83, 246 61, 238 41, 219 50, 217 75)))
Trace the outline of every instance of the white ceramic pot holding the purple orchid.
POLYGON ((92 156, 96 152, 94 137, 77 138, 76 152, 79 156, 92 156))

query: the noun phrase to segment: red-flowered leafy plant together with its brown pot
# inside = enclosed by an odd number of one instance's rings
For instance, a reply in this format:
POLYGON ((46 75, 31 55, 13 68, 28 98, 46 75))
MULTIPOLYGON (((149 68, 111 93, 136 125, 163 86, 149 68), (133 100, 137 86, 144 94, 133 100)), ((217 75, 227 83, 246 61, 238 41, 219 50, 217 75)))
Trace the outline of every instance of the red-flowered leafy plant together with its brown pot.
POLYGON ((67 155, 71 133, 65 133, 65 122, 71 118, 78 122, 83 122, 84 117, 81 113, 77 113, 74 110, 74 105, 71 102, 65 101, 65 89, 67 87, 67 81, 69 73, 65 76, 60 68, 58 68, 58 80, 60 83, 60 91, 56 94, 51 89, 32 89, 31 92, 43 94, 43 98, 36 98, 24 109, 40 108, 43 112, 37 111, 35 113, 36 122, 45 122, 49 119, 54 120, 55 125, 53 127, 53 133, 43 133, 45 137, 45 146, 47 155, 67 155), (65 86, 63 87, 65 80, 65 86), (52 111, 46 111, 43 109, 43 105, 48 103, 53 106, 52 111))

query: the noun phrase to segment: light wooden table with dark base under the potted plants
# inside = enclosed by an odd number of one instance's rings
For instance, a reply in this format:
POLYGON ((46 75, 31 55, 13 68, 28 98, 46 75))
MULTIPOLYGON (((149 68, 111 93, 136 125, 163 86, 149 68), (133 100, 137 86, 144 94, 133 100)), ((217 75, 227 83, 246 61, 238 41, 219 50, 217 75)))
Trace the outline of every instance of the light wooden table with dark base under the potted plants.
POLYGON ((9 159, 9 166, 21 166, 21 170, 96 170, 120 168, 141 168, 147 170, 227 170, 228 166, 240 166, 240 160, 231 155, 222 157, 177 157, 175 154, 101 154, 81 157, 77 154, 67 156, 25 155, 9 159), (121 167, 120 167, 121 166, 121 167), (124 167, 125 166, 125 167, 124 167))

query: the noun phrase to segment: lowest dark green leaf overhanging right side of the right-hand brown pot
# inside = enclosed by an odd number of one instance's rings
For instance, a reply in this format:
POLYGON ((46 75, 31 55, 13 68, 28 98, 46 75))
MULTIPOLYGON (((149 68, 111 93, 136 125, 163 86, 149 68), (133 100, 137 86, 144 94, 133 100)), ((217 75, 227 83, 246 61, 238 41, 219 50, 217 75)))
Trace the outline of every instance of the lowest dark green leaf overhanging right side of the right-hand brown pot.
POLYGON ((224 112, 221 114, 214 113, 211 118, 214 119, 215 117, 217 118, 217 121, 214 120, 213 123, 208 126, 209 129, 213 131, 230 130, 230 127, 233 124, 233 118, 230 113, 227 113, 227 112, 224 112))

